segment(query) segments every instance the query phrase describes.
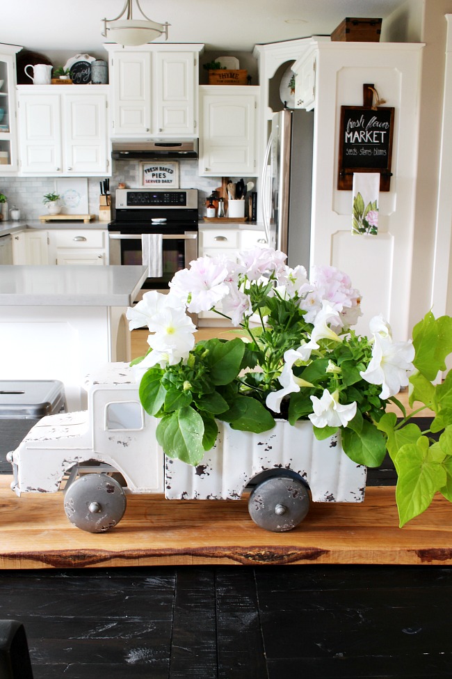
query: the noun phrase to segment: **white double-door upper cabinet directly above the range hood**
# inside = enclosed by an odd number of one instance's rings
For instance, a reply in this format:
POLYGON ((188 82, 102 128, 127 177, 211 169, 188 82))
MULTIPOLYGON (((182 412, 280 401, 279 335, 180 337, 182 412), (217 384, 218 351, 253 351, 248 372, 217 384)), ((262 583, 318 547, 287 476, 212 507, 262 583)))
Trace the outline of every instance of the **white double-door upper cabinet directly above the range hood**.
POLYGON ((199 55, 204 45, 105 45, 113 136, 197 136, 199 55))

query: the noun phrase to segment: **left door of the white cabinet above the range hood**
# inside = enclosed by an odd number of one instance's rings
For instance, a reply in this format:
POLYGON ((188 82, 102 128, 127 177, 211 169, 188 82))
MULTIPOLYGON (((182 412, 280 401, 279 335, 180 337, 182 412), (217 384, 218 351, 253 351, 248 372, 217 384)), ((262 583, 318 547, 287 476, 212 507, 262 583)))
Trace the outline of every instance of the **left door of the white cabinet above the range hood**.
POLYGON ((144 134, 151 127, 151 54, 115 52, 113 134, 144 134))

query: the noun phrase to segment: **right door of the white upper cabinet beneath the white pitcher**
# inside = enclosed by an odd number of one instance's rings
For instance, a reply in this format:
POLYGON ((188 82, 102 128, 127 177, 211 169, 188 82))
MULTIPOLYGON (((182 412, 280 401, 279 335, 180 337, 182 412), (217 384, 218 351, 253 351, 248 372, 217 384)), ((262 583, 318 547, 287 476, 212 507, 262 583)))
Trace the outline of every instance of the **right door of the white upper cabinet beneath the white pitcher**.
POLYGON ((63 97, 65 174, 108 171, 106 95, 63 97))

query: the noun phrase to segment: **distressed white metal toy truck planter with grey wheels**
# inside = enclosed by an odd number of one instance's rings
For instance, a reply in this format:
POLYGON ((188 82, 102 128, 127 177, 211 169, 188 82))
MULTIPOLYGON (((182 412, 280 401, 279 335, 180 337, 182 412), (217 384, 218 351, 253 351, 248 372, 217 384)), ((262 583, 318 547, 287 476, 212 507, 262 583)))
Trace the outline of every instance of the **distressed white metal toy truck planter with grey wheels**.
POLYGON ((8 453, 11 487, 56 492, 64 485, 65 512, 97 533, 118 524, 126 493, 165 493, 167 499, 249 499, 252 519, 271 531, 297 526, 313 501, 360 502, 366 467, 341 450, 337 437, 317 441, 309 422, 279 421, 264 434, 219 422, 216 445, 191 467, 164 455, 159 420, 148 415, 127 364, 109 364, 86 381, 88 410, 43 417, 8 453))

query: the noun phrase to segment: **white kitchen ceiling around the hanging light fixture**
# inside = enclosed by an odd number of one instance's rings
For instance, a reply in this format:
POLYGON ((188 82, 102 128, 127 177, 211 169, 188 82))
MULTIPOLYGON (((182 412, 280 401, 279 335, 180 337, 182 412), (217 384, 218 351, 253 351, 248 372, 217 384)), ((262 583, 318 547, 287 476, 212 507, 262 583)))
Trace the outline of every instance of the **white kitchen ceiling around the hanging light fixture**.
MULTIPOLYGON (((404 0, 140 0, 145 14, 168 21, 168 42, 202 42, 208 51, 248 52, 257 43, 330 35, 345 17, 385 19, 404 0)), ((102 55, 101 19, 124 0, 15 0, 1 8, 0 42, 35 52, 102 55), (97 53, 97 54, 96 54, 97 53)), ((134 5, 133 18, 140 18, 134 5)), ((142 17, 141 17, 142 18, 142 17)), ((156 40, 162 42, 162 38, 156 40)), ((220 56, 220 54, 218 54, 220 56)))

